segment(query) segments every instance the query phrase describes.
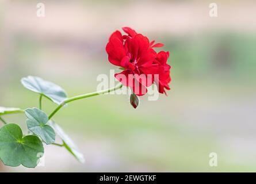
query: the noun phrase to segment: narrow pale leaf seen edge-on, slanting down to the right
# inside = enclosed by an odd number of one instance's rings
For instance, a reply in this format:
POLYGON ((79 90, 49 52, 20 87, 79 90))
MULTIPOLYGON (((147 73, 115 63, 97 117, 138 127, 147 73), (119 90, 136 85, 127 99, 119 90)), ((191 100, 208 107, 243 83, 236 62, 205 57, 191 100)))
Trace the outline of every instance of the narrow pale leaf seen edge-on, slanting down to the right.
POLYGON ((50 120, 49 125, 54 128, 56 134, 62 139, 64 147, 69 151, 75 158, 81 162, 85 162, 85 158, 83 158, 83 155, 78 151, 77 146, 74 144, 74 142, 66 135, 66 133, 63 131, 62 128, 58 124, 56 124, 54 121, 50 120))

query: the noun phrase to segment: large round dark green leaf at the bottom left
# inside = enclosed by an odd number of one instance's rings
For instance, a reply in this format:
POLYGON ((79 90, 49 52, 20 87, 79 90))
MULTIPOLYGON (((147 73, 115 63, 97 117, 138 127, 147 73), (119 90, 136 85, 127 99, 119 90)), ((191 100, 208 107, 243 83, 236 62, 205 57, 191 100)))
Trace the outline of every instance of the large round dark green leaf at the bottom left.
POLYGON ((43 156, 44 147, 39 137, 22 137, 21 128, 7 124, 0 129, 0 158, 6 166, 34 168, 43 156))

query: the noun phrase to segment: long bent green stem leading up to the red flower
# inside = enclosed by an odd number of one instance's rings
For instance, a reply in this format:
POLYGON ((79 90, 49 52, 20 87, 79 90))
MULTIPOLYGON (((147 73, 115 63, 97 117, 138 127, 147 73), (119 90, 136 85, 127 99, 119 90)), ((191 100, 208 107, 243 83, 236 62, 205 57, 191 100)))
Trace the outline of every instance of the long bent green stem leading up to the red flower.
POLYGON ((60 104, 55 110, 54 112, 52 112, 49 116, 49 120, 51 120, 51 118, 56 114, 56 112, 58 112, 65 104, 68 104, 69 102, 72 101, 76 101, 78 99, 83 99, 83 98, 88 98, 88 97, 93 97, 93 96, 97 96, 100 94, 105 94, 105 93, 109 93, 111 91, 115 91, 117 89, 120 89, 123 85, 120 83, 119 85, 117 85, 116 87, 112 87, 110 89, 106 89, 106 90, 102 90, 102 91, 95 91, 93 93, 87 93, 87 94, 82 94, 82 95, 78 95, 76 97, 71 97, 66 99, 65 101, 62 102, 62 104, 60 104))

